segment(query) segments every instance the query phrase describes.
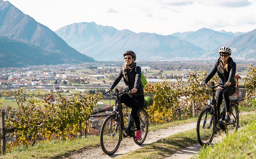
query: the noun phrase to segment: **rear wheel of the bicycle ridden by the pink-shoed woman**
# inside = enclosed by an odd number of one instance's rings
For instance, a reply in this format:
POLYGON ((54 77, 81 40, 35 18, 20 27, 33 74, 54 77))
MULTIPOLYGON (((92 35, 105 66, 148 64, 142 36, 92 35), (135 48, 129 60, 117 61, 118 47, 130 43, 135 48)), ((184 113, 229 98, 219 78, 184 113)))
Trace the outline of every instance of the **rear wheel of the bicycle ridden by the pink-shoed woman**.
POLYGON ((142 139, 141 140, 135 140, 135 135, 133 136, 133 140, 135 142, 135 144, 141 145, 144 143, 144 141, 147 138, 148 135, 148 131, 149 131, 149 117, 148 117, 148 113, 146 112, 145 109, 141 109, 139 111, 140 114, 140 128, 142 129, 143 133, 142 133, 142 139))

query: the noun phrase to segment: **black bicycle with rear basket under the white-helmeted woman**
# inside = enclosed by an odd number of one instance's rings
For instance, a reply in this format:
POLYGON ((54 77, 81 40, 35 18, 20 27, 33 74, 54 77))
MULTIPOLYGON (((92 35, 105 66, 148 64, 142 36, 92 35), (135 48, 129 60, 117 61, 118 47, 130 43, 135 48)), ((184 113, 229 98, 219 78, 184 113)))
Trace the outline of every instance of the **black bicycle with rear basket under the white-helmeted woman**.
MULTIPOLYGON (((200 113, 197 119, 197 140, 199 144, 202 146, 209 145, 213 141, 213 136, 216 133, 216 127, 221 128, 228 134, 231 131, 237 131, 239 128, 239 102, 242 101, 242 98, 230 99, 230 108, 229 108, 229 116, 230 121, 225 122, 225 108, 224 104, 222 105, 220 119, 218 117, 217 105, 215 100, 215 88, 219 87, 219 85, 215 86, 214 82, 211 82, 209 86, 206 83, 203 83, 200 86, 206 85, 207 87, 212 89, 212 97, 211 100, 208 100, 208 104, 205 109, 200 113), (219 120, 218 120, 219 119, 219 120)), ((245 94, 245 91, 243 92, 245 94)), ((242 95, 244 97, 244 95, 242 95)))

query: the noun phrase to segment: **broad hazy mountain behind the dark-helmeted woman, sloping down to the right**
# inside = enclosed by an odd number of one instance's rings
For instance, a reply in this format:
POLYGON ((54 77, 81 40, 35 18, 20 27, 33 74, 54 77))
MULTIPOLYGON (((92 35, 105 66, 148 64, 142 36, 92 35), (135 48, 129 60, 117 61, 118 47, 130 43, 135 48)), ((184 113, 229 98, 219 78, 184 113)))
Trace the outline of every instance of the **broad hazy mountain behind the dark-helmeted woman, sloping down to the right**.
POLYGON ((138 59, 171 59, 196 57, 206 51, 175 36, 119 31, 111 26, 82 22, 55 31, 70 46, 96 60, 120 60, 122 53, 133 50, 138 59))

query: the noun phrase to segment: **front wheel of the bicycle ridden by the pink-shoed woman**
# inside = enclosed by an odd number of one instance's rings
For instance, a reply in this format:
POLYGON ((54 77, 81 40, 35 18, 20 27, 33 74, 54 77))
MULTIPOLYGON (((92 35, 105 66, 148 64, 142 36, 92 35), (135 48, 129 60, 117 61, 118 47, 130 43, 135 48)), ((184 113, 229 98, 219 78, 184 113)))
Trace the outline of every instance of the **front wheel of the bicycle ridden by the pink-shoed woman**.
POLYGON ((101 149, 107 155, 114 154, 122 139, 121 122, 117 122, 117 116, 108 116, 101 126, 101 149))

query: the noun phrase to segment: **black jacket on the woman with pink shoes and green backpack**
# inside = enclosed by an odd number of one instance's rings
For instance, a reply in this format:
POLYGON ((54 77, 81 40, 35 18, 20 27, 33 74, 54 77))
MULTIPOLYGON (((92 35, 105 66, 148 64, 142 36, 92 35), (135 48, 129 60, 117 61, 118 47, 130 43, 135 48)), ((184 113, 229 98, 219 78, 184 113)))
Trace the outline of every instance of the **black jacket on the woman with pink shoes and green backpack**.
POLYGON ((135 93, 136 95, 141 95, 144 93, 142 83, 140 81, 141 68, 139 66, 137 66, 136 62, 134 62, 132 67, 124 70, 124 76, 123 76, 123 68, 121 68, 120 72, 118 73, 115 80, 112 82, 109 89, 110 90, 114 89, 114 87, 116 87, 116 85, 123 78, 126 88, 128 88, 129 90, 136 88, 137 89, 137 92, 135 93), (135 71, 135 69, 136 69, 136 71, 135 71))

